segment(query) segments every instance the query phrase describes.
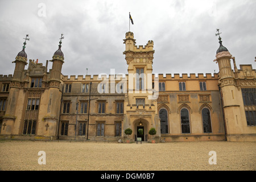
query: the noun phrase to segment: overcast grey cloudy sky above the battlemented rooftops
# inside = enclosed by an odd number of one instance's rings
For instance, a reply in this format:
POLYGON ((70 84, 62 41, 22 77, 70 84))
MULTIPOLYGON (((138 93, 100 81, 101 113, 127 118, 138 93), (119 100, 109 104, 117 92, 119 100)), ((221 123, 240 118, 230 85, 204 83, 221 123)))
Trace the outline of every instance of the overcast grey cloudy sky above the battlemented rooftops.
MULTIPOLYGON (((238 69, 240 64, 255 68, 255 0, 1 0, 0 75, 13 74, 11 62, 26 34, 28 60, 38 59, 43 65, 52 60, 64 34, 63 75, 86 75, 86 68, 88 75, 109 75, 110 69, 127 73, 123 39, 129 31, 129 12, 137 46, 154 41, 153 73, 217 73, 216 28, 238 69)), ((49 62, 48 69, 51 66, 49 62)))

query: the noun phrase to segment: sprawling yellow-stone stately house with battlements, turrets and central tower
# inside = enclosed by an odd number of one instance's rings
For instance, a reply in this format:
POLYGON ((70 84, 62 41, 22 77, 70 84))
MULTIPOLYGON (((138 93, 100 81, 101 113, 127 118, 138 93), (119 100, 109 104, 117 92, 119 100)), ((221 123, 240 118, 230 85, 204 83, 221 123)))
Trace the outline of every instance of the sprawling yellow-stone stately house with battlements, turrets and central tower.
POLYGON ((218 73, 158 77, 152 74, 154 42, 137 46, 133 32, 123 39, 125 75, 65 76, 61 41, 50 69, 48 60, 27 61, 25 41, 14 74, 0 76, 0 138, 255 141, 255 69, 238 69, 219 39, 218 73))

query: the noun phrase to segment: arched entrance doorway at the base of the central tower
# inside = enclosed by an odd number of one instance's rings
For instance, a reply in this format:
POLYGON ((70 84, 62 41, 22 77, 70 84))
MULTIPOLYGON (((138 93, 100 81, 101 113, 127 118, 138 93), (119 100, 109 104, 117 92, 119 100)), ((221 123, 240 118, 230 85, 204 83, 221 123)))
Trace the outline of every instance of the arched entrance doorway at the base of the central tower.
POLYGON ((146 119, 139 118, 134 121, 134 140, 141 138, 142 141, 148 140, 148 121, 146 119))

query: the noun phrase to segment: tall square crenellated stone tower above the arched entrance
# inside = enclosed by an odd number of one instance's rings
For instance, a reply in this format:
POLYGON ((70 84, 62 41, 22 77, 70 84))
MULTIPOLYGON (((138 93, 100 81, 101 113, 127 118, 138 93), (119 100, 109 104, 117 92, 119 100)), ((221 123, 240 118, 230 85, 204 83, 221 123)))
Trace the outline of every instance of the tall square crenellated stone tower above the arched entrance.
POLYGON ((155 127, 155 137, 160 137, 160 121, 157 111, 154 85, 152 81, 152 64, 154 56, 154 42, 149 40, 146 46, 136 46, 133 32, 127 32, 125 39, 125 55, 128 65, 129 84, 125 96, 125 118, 123 122, 124 130, 133 130, 132 138, 142 138, 150 140, 148 131, 155 127))

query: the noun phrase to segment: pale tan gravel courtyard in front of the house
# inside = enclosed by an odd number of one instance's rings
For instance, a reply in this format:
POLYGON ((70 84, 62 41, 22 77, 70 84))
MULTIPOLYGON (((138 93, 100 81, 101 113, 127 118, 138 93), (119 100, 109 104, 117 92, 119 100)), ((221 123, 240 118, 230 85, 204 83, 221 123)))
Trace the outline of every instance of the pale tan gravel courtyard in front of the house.
POLYGON ((256 142, 107 143, 0 141, 0 170, 250 170, 256 142), (39 151, 46 164, 38 164, 39 151), (210 151, 217 164, 209 164, 210 151))

